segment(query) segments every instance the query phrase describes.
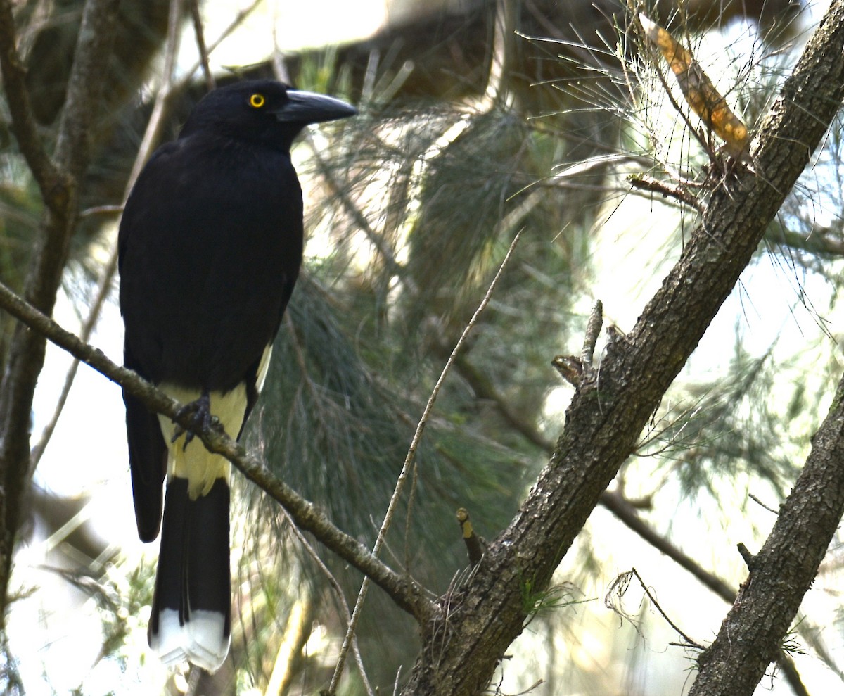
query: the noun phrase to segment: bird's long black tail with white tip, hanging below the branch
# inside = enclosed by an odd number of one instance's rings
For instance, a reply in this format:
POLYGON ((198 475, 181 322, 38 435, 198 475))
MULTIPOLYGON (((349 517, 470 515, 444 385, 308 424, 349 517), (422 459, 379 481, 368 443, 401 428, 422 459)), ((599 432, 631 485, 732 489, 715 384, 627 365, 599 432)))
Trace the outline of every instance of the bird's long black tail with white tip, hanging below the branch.
POLYGON ((189 660, 215 672, 228 654, 229 503, 225 478, 195 499, 188 494, 187 478, 167 482, 149 619, 149 645, 165 664, 189 660))

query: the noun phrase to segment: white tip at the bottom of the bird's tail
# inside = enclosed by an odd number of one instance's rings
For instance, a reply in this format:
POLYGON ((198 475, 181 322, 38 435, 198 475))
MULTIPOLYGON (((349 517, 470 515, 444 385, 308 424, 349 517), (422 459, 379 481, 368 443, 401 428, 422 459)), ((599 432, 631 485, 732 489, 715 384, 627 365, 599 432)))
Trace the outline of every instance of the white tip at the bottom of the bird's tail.
POLYGON ((158 633, 149 636, 149 647, 167 666, 187 660, 213 673, 229 654, 230 635, 225 633, 225 617, 218 612, 191 612, 190 621, 180 623, 179 612, 164 609, 158 628, 158 633))

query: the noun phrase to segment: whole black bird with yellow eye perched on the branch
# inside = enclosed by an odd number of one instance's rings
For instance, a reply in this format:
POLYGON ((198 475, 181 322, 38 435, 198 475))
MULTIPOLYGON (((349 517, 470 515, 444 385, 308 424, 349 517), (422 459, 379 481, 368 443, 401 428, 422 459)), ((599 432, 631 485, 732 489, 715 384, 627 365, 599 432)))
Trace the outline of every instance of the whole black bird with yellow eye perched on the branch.
MULTIPOLYGON (((302 258, 302 193, 290 145, 309 123, 352 106, 271 80, 206 95, 156 150, 118 238, 124 362, 238 438, 267 375, 302 258)), ((165 663, 210 672, 230 639, 230 464, 128 394, 135 518, 164 525, 149 644, 165 663)))

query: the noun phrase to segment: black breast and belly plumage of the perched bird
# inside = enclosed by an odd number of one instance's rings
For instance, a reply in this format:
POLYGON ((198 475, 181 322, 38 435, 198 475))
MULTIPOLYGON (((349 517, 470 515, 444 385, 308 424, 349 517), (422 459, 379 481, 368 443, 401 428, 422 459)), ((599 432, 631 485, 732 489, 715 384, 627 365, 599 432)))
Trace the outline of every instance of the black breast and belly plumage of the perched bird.
POLYGON ((127 364, 228 390, 273 340, 302 257, 289 154, 193 133, 138 178, 119 237, 127 364))

